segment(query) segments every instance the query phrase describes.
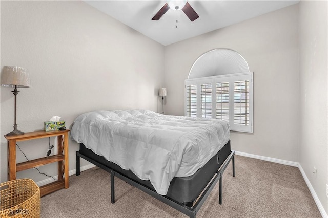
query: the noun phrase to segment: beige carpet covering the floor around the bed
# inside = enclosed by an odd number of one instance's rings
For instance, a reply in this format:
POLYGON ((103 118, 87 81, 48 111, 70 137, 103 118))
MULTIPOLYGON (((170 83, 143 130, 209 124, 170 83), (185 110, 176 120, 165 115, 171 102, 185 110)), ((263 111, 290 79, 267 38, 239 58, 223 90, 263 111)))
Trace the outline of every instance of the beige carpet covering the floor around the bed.
MULTIPOLYGON (((321 217, 297 167, 235 156, 223 174, 223 203, 218 183, 197 217, 321 217)), ((52 217, 187 217, 150 195, 115 178, 110 202, 110 175, 98 169, 70 177, 70 187, 41 198, 41 216, 52 217)))

